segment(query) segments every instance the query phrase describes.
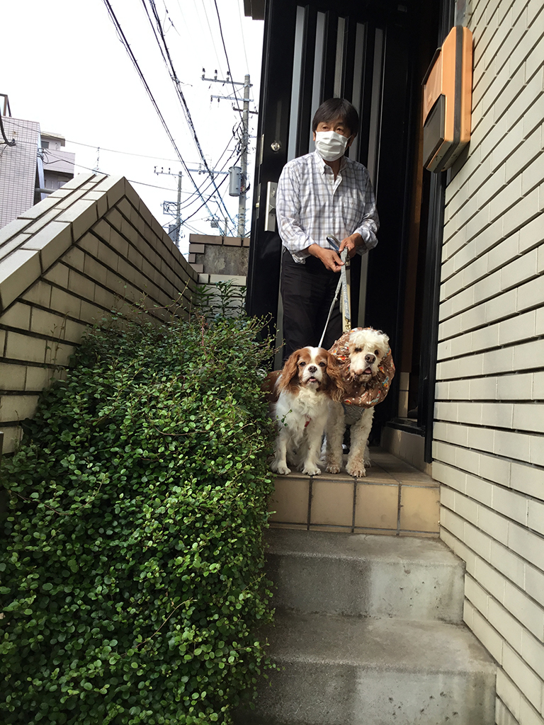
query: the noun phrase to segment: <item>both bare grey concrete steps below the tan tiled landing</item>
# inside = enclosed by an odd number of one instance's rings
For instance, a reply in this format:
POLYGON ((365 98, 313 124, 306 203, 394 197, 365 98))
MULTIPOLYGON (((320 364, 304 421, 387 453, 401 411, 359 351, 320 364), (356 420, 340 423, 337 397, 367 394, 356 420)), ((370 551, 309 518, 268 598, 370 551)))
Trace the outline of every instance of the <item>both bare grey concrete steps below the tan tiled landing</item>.
POLYGON ((495 664, 439 539, 268 531, 278 666, 236 725, 493 725, 495 664))

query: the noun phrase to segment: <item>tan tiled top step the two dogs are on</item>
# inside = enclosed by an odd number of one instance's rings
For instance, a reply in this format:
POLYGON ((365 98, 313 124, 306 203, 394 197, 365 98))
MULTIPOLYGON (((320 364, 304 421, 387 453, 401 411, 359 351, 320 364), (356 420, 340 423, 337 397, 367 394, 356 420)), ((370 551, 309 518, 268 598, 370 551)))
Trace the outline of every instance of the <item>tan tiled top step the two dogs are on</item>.
POLYGON ((372 447, 370 453, 372 466, 364 479, 354 479, 345 470, 334 476, 296 471, 276 476, 269 502, 271 526, 438 537, 438 482, 379 448, 372 447))

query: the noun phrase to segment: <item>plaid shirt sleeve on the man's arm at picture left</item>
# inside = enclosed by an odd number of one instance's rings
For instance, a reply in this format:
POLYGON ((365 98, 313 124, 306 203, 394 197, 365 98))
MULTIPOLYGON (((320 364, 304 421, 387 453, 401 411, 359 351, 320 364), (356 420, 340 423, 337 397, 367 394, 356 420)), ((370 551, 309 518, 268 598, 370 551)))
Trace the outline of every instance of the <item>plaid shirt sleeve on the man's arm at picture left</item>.
MULTIPOLYGON (((297 262, 310 256, 306 250, 313 239, 300 222, 300 170, 296 164, 286 164, 281 172, 276 192, 276 220, 279 236, 297 262)), ((361 235, 362 236, 362 235, 361 235)))

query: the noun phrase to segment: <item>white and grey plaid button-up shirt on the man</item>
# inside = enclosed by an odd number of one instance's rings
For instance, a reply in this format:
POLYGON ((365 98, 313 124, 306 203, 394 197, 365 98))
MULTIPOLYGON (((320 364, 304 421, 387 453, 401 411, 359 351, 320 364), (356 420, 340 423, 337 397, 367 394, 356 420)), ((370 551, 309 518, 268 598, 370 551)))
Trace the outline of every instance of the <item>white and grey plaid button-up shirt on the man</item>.
POLYGON ((358 232, 362 254, 378 244, 378 212, 366 168, 343 157, 337 178, 317 152, 292 159, 281 172, 276 218, 284 247, 304 264, 310 244, 332 249, 326 237, 339 241, 358 232))

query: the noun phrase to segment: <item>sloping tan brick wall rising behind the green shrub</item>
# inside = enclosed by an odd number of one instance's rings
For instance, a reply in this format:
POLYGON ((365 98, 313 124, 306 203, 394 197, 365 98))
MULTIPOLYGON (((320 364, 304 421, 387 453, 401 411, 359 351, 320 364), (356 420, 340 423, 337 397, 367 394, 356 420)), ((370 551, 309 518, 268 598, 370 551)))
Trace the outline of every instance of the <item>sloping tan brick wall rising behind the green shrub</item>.
POLYGON ((125 178, 77 176, 0 229, 0 431, 62 377, 86 326, 144 301, 155 318, 186 314, 197 273, 125 178))

